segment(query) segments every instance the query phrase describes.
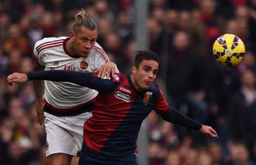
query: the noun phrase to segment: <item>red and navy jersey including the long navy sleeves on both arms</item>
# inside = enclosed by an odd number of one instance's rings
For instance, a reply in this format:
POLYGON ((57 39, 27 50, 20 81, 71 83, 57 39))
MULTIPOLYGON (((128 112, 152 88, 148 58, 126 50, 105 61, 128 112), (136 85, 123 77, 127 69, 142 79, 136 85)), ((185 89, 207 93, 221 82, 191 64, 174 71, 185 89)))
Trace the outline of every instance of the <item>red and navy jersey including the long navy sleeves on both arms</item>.
POLYGON ((107 157, 135 162, 140 127, 152 110, 171 123, 195 130, 202 127, 202 124, 170 107, 156 84, 151 84, 148 90, 137 91, 130 75, 116 74, 112 80, 101 80, 92 73, 52 70, 27 76, 29 80, 67 81, 99 91, 93 116, 84 124, 84 149, 86 154, 96 159, 107 157))

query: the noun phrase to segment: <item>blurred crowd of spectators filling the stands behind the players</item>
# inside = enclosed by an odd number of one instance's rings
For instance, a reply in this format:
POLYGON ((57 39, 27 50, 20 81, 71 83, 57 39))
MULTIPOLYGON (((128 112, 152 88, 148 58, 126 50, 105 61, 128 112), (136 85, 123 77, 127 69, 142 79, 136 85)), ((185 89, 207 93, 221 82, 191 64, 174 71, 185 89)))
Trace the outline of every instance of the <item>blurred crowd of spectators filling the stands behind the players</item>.
MULTIPOLYGON (((98 25, 97 42, 110 60, 129 73, 137 50, 135 1, 0 1, 1 164, 47 164, 33 84, 10 87, 6 76, 32 71, 35 42, 69 36, 80 8, 98 25)), ((146 28, 148 49, 161 59, 156 82, 168 103, 219 135, 203 137, 151 112, 150 165, 256 164, 256 0, 149 0, 146 28), (245 43, 237 67, 220 66, 212 55, 213 42, 225 33, 245 43)))

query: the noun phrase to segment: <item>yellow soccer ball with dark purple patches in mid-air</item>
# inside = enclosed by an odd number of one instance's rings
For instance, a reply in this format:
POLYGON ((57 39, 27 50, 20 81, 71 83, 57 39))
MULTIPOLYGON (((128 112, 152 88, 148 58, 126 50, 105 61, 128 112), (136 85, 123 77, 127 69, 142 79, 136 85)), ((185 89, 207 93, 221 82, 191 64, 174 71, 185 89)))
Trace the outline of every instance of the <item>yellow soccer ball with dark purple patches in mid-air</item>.
POLYGON ((234 34, 224 34, 214 42, 215 60, 224 66, 236 66, 245 53, 244 42, 234 34))

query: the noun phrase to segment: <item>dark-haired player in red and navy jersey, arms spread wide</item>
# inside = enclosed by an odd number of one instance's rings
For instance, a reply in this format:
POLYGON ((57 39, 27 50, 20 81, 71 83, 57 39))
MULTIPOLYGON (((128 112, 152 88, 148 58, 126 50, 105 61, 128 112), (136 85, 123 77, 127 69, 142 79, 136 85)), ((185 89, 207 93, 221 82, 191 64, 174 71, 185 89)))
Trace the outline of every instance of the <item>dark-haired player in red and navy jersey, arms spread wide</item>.
POLYGON ((212 127, 202 125, 168 105, 154 83, 158 63, 154 52, 140 51, 135 54, 131 74, 117 73, 112 80, 101 80, 93 73, 73 74, 57 70, 14 73, 8 76, 8 82, 67 81, 98 90, 93 116, 85 121, 79 164, 137 164, 136 140, 142 121, 152 110, 171 123, 218 138, 212 127))

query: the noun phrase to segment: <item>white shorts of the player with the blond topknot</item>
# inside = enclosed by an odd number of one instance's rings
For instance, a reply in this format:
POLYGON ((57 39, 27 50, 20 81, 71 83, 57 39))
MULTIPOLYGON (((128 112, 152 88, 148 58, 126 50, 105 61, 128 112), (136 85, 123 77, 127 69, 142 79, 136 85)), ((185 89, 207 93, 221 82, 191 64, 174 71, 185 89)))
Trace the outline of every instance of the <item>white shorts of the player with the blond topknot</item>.
POLYGON ((56 153, 77 156, 82 148, 84 123, 92 117, 92 113, 58 117, 44 112, 44 116, 46 157, 56 153))

